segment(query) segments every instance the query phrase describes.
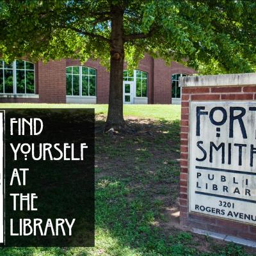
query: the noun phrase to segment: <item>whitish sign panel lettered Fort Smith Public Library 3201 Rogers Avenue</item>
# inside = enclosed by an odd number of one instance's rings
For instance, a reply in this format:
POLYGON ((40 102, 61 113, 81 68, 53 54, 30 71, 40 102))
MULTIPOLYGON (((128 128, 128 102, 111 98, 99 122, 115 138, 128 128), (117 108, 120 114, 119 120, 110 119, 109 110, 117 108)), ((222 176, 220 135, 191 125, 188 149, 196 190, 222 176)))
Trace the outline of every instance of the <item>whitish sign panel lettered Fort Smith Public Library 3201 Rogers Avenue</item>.
POLYGON ((256 103, 189 108, 189 212, 256 225, 256 103))

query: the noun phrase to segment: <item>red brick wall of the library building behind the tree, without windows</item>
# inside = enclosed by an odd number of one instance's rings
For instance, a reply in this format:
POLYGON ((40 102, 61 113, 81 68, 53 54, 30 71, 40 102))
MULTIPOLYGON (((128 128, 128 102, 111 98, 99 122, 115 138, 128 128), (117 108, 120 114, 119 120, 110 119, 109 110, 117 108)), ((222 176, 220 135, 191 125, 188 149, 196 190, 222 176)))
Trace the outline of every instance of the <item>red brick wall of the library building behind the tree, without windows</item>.
MULTIPOLYGON (((66 67, 81 65, 79 60, 49 61, 47 64, 38 62, 35 65, 36 94, 39 99, 30 98, 1 98, 0 102, 66 102, 66 67)), ((87 67, 97 70, 97 103, 106 104, 109 98, 109 72, 102 67, 99 61, 86 61, 87 67)), ((124 69, 126 65, 124 65, 124 69)), ((161 59, 154 60, 148 54, 140 61, 138 70, 148 73, 148 104, 170 104, 172 74, 194 74, 195 70, 172 62, 166 66, 161 59)))

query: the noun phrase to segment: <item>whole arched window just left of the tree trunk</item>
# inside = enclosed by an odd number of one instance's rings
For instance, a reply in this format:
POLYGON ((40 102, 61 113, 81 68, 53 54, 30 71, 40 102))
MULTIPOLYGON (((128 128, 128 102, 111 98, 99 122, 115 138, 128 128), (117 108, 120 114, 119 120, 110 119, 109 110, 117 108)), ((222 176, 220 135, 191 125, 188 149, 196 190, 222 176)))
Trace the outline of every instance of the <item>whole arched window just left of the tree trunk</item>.
POLYGON ((66 68, 67 95, 96 96, 96 70, 84 66, 66 68))

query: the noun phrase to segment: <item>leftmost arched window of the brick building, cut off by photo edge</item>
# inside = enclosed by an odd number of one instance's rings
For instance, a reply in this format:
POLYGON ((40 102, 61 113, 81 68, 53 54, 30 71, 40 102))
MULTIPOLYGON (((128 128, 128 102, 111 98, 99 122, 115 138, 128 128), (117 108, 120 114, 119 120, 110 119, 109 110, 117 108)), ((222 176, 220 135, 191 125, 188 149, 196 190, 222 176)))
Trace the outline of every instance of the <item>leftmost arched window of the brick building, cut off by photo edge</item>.
POLYGON ((35 93, 34 63, 15 60, 7 64, 0 60, 0 93, 35 93))

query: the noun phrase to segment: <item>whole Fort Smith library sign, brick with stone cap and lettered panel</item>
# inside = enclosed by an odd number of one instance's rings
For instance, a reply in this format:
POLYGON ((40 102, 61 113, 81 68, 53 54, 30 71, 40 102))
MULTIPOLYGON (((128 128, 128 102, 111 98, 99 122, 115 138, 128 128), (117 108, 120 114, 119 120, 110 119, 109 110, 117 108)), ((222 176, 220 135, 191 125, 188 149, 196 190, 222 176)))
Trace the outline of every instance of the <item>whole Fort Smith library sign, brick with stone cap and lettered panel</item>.
MULTIPOLYGON (((248 159, 248 157, 250 157, 250 145, 256 147, 256 112, 254 111, 256 109, 256 74, 182 77, 180 79, 180 84, 182 85, 180 130, 180 225, 182 225, 182 227, 191 228, 192 231, 195 230, 195 228, 200 228, 201 230, 218 232, 226 236, 234 236, 238 239, 250 239, 256 241, 256 221, 253 221, 254 218, 256 218, 256 212, 249 210, 250 207, 255 207, 254 209, 256 209, 256 182, 253 184, 253 180, 255 181, 256 176, 255 174, 252 174, 255 172, 256 157, 254 156, 255 161, 253 162, 253 166, 250 166, 250 159, 248 159), (225 124, 221 124, 223 126, 214 126, 211 123, 209 118, 211 113, 210 109, 214 106, 221 108, 219 110, 215 109, 215 111, 219 111, 219 113, 216 112, 214 114, 219 118, 218 121, 221 119, 225 120, 225 115, 223 113, 227 111, 227 121, 225 124), (243 116, 243 122, 247 132, 247 138, 243 138, 241 132, 241 127, 243 125, 241 125, 237 119, 232 122, 230 121, 232 115, 237 116, 241 114, 242 111, 235 110, 232 114, 230 108, 234 107, 244 108, 246 111, 243 116), (200 108, 200 111, 202 112, 199 112, 198 109, 200 108), (221 111, 223 111, 223 113, 221 111), (196 123, 198 119, 196 115, 194 116, 195 113, 202 114, 198 114, 200 118, 198 124, 201 126, 196 123), (202 125, 204 125, 204 127, 202 127, 202 125), (196 129, 199 127, 201 130, 195 130, 195 127, 196 129), (230 129, 236 129, 234 136, 230 136, 230 129), (221 135, 218 135, 219 130, 221 135), (195 131, 199 131, 200 135, 195 131), (204 134, 208 134, 209 141, 207 136, 205 136, 204 139, 201 138, 204 134), (199 142, 201 143, 199 145, 203 145, 202 147, 204 147, 207 154, 205 160, 202 160, 203 156, 205 156, 204 152, 198 149, 195 143, 195 141, 198 142, 199 140, 202 141, 202 143, 199 142), (213 141, 212 143, 216 143, 216 145, 220 145, 221 142, 225 143, 225 146, 223 147, 225 147, 226 150, 223 155, 221 155, 221 152, 219 151, 214 151, 214 153, 212 153, 214 154, 212 162, 209 160, 209 154, 211 153, 209 153, 209 148, 206 146, 209 145, 211 141, 213 141), (241 165, 239 165, 238 162, 240 153, 238 153, 237 147, 234 147, 234 143, 237 143, 237 141, 239 141, 239 143, 241 143, 240 141, 243 141, 243 145, 246 145, 243 146, 246 150, 244 149, 241 153, 243 154, 243 164, 241 165), (227 151, 229 147, 228 143, 230 143, 230 147, 232 147, 232 151, 230 152, 232 163, 228 163, 227 159, 229 154, 229 151, 227 151), (198 150, 198 155, 196 155, 197 153, 195 153, 195 150, 198 150), (197 156, 197 159, 200 159, 200 161, 196 160, 195 156, 197 156), (222 163, 221 156, 225 157, 224 163, 222 163), (195 165, 198 165, 199 167, 195 165), (202 168, 202 166, 205 167, 202 168), (246 172, 246 174, 244 174, 244 172, 246 172), (196 175, 204 175, 204 179, 201 179, 201 176, 197 178, 195 173, 196 175), (218 180, 211 181, 207 179, 206 176, 209 175, 209 173, 211 173, 210 175, 215 175, 214 179, 218 179, 220 175, 223 175, 230 183, 228 184, 227 182, 220 182, 218 180), (191 177, 190 180, 189 177, 191 177), (235 182, 237 182, 237 184, 234 184, 233 177, 236 177, 235 182), (246 179, 249 180, 248 186, 246 186, 245 183, 246 179), (194 186, 193 184, 195 184, 197 180, 198 184, 196 183, 196 186, 194 186), (220 184, 219 188, 222 190, 212 190, 212 187, 210 186, 212 186, 213 182, 216 182, 218 186, 220 184), (205 189, 205 183, 208 183, 207 190, 205 189), (228 193, 221 186, 227 186, 228 193), (239 188, 240 194, 233 193, 234 186, 239 188), (250 196, 244 194, 245 188, 250 189, 250 196), (198 191, 201 193, 200 195, 198 195, 198 191), (202 194, 205 192, 209 195, 202 194), (194 204, 194 201, 198 202, 196 201, 196 198, 198 198, 196 196, 201 196, 200 198, 202 198, 202 200, 199 201, 199 204, 194 204), (214 198, 216 198, 216 200, 214 198), (189 202, 189 200, 191 200, 191 202, 189 202), (216 201, 216 204, 211 204, 211 200, 212 202, 216 201), (222 203, 220 203, 220 201, 222 203), (225 207, 223 206, 223 202, 230 202, 231 206, 227 207, 226 205, 225 207), (233 203, 234 207, 232 207, 233 203), (220 206, 220 204, 222 204, 222 206, 220 206), (196 209, 196 205, 202 205, 202 207, 196 209), (204 209, 204 207, 208 208, 204 209), (229 211, 231 211, 231 213, 233 212, 232 217, 231 215, 228 215, 229 211), (238 215, 235 216, 236 214, 234 214, 234 212, 238 215), (245 214, 248 214, 248 216, 245 216, 245 214), (253 217, 250 216, 250 214, 252 214, 253 217), (248 220, 248 218, 250 218, 250 220, 248 220)), ((212 113, 214 113, 214 110, 212 110, 212 113)), ((214 115, 212 114, 212 118, 217 119, 214 115)))

